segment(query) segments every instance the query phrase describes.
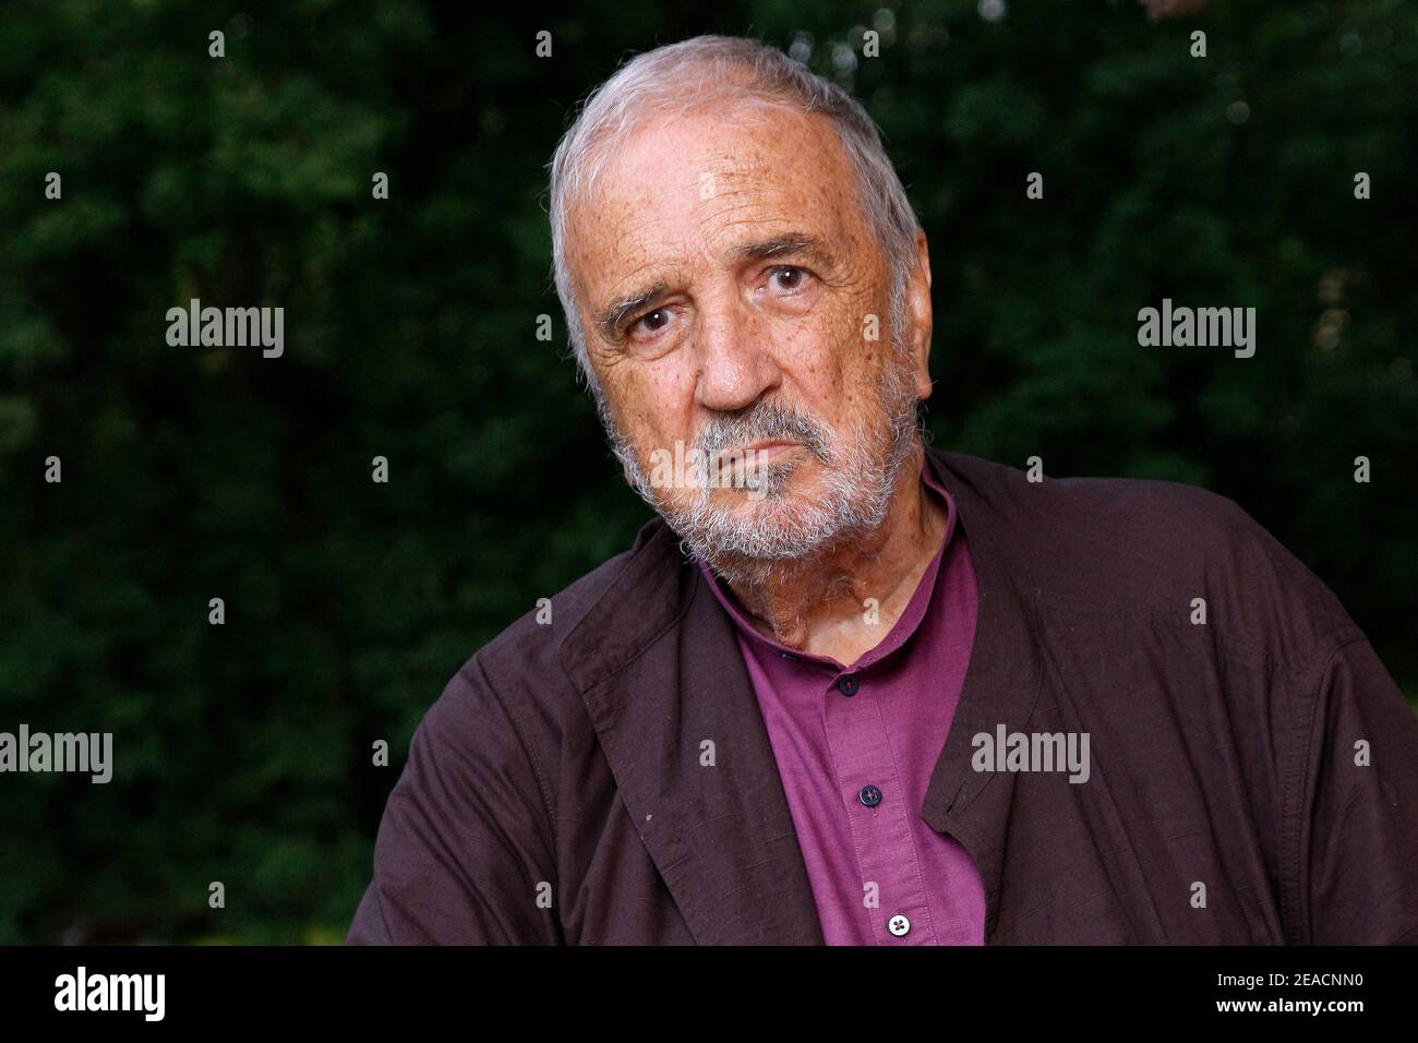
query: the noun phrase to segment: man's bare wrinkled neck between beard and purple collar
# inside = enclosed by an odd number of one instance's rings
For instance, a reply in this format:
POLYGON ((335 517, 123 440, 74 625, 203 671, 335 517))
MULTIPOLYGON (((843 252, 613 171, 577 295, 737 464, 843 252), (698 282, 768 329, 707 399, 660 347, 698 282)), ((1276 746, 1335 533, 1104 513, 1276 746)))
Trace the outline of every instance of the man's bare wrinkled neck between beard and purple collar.
POLYGON ((946 508, 919 477, 923 453, 917 444, 902 467, 875 532, 784 563, 761 582, 730 583, 763 634, 851 666, 891 631, 946 535, 946 508))

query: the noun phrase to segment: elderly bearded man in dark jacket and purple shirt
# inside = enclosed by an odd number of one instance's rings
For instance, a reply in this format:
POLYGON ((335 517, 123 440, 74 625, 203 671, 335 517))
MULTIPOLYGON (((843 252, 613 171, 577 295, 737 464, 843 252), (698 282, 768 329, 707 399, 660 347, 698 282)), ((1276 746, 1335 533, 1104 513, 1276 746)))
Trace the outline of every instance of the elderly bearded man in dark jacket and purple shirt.
POLYGON ((1320 580, 1202 490, 923 444, 926 238, 849 95, 651 51, 550 202, 658 517, 428 711, 350 942, 1418 939, 1418 727, 1320 580))

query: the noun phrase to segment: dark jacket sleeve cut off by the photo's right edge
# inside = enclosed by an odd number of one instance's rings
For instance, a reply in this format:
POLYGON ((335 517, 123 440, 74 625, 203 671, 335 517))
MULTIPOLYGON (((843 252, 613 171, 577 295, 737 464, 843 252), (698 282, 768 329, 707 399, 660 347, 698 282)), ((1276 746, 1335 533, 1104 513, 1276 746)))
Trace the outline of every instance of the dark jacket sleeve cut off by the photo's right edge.
POLYGON ((1300 700, 1288 793, 1292 942, 1418 942, 1418 722, 1351 630, 1300 700))

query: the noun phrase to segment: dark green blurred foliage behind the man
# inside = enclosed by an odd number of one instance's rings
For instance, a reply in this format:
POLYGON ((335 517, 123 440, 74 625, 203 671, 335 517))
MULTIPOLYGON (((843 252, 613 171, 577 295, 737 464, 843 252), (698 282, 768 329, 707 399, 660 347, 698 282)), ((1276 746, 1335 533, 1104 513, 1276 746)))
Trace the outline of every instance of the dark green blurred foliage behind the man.
POLYGON ((647 517, 564 358, 545 163, 621 58, 702 31, 810 34, 888 135, 936 444, 1236 498, 1414 691, 1412 4, 891 10, 854 68, 876 3, 6 4, 0 729, 112 731, 118 771, 0 776, 0 941, 343 937, 424 710, 647 517), (285 356, 169 348, 191 297, 284 307, 285 356), (1163 297, 1254 305, 1255 358, 1140 349, 1163 297))

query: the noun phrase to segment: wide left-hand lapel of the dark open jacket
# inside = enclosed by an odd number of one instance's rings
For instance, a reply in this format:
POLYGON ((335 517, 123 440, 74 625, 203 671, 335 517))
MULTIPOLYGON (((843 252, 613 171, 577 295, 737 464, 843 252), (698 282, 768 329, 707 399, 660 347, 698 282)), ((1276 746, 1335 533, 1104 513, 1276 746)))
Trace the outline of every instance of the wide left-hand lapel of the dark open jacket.
POLYGON ((625 809, 698 944, 822 944, 732 623, 659 519, 571 630, 576 681, 625 809))

